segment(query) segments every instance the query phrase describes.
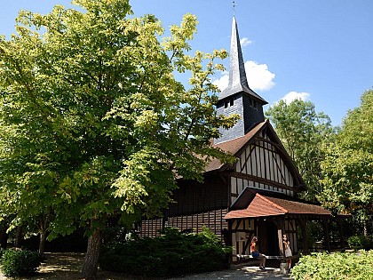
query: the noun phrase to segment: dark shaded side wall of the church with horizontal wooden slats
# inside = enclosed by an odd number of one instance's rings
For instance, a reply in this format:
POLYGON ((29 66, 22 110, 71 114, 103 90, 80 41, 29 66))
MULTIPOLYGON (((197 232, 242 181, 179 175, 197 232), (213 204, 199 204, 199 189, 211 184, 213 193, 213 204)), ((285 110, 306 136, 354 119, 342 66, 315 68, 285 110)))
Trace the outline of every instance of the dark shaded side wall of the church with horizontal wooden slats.
POLYGON ((204 183, 180 181, 180 188, 172 196, 174 203, 164 211, 162 218, 143 220, 139 236, 159 236, 164 227, 195 233, 207 227, 224 240, 228 232, 228 222, 223 219, 228 212, 226 184, 224 177, 215 174, 207 176, 204 183))

